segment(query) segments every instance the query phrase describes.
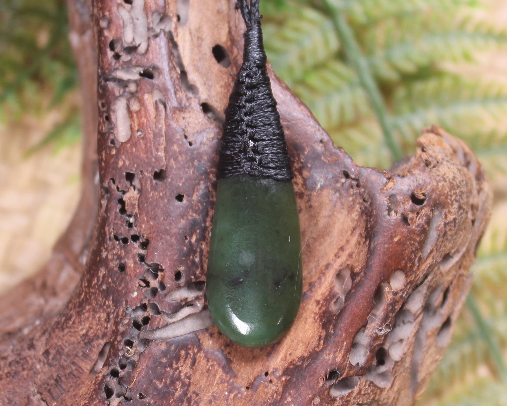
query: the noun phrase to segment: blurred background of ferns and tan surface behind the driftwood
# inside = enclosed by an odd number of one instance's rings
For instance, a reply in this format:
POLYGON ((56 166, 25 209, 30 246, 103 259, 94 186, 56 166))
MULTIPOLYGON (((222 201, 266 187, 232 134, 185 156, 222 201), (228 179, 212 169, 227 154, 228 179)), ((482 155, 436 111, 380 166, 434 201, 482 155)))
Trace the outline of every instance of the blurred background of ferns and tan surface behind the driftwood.
MULTIPOLYGON (((507 2, 261 8, 275 72, 357 163, 388 168, 431 124, 479 156, 493 214, 472 293, 418 405, 507 405, 507 2)), ((64 1, 0 1, 0 292, 44 264, 79 199, 80 99, 67 34, 64 1)))

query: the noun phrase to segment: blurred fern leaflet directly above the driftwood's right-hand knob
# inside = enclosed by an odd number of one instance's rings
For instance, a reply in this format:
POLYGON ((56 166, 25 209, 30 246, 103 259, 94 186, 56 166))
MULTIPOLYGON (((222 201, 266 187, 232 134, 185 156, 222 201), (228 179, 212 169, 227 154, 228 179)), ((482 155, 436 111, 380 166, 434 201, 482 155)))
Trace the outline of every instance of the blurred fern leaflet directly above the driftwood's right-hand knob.
POLYGON ((439 124, 467 141, 489 175, 507 170, 507 87, 442 75, 399 87, 393 95, 393 126, 411 144, 421 128, 439 124), (503 161, 503 163, 502 163, 503 161))

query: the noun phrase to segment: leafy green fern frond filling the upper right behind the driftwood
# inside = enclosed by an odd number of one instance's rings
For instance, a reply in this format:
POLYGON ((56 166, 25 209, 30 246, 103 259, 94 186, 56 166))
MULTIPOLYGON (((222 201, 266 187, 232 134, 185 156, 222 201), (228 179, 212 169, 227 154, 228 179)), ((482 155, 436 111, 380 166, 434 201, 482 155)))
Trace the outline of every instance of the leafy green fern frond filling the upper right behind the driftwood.
MULTIPOLYGON (((365 128, 361 121, 372 119, 372 109, 356 75, 350 74, 343 55, 336 49, 322 52, 322 44, 325 44, 322 41, 320 48, 308 46, 311 41, 299 43, 301 38, 312 38, 306 34, 306 29, 314 29, 321 35, 319 30, 326 27, 326 35, 331 35, 332 27, 320 3, 312 3, 319 11, 303 19, 311 21, 308 26, 298 20, 302 10, 307 14, 306 10, 310 9, 308 2, 279 0, 276 4, 278 10, 283 10, 283 4, 288 11, 273 17, 274 21, 282 21, 280 27, 268 24, 268 30, 273 31, 268 31, 266 44, 272 50, 270 59, 275 71, 292 86, 338 145, 350 147, 347 150, 361 163, 378 164, 377 160, 369 162, 361 158, 379 147, 378 131, 357 130, 365 128), (286 35, 283 31, 287 24, 292 28, 286 35), (319 28, 310 28, 312 25, 319 25, 319 28), (302 50, 304 58, 294 49, 302 50), (372 138, 366 141, 370 136, 372 138), (351 141, 352 137, 361 141, 351 141)), ((495 94, 494 83, 489 91, 482 83, 463 84, 459 77, 446 74, 440 67, 443 61, 468 60, 478 51, 505 47, 507 36, 502 29, 465 18, 470 7, 483 5, 468 0, 349 0, 340 4, 350 21, 356 23, 353 28, 359 41, 371 52, 369 58, 374 72, 384 83, 391 83, 384 85, 384 96, 392 109, 397 137, 405 150, 413 150, 421 128, 438 123, 468 141, 480 158, 487 158, 484 166, 491 177, 507 173, 507 163, 503 159, 503 150, 507 148, 507 121, 501 119, 507 112, 507 92, 495 94), (450 19, 448 13, 457 11, 460 18, 450 19), (361 27, 364 21, 373 23, 361 27), (408 95, 411 100, 407 100, 408 95)), ((317 39, 318 35, 313 38, 317 39)), ((384 162, 381 166, 389 165, 384 162)))

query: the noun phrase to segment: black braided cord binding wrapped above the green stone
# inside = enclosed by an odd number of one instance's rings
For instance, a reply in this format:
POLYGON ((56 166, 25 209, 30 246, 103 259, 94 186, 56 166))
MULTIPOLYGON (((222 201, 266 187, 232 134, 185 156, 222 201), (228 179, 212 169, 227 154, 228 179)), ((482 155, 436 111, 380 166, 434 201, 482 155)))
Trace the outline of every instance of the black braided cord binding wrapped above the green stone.
POLYGON ((243 64, 225 110, 218 176, 290 180, 291 162, 266 69, 259 0, 249 3, 238 0, 247 29, 243 64))

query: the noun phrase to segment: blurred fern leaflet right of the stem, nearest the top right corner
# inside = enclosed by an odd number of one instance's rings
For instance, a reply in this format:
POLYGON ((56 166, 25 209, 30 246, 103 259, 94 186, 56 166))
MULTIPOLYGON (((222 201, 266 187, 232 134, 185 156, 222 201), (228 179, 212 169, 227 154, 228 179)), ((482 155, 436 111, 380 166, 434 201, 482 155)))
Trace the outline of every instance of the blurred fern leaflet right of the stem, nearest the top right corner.
POLYGON ((441 9, 382 20, 361 29, 357 36, 374 72, 388 81, 444 61, 473 60, 478 51, 507 49, 503 27, 466 15, 449 19, 441 9))

